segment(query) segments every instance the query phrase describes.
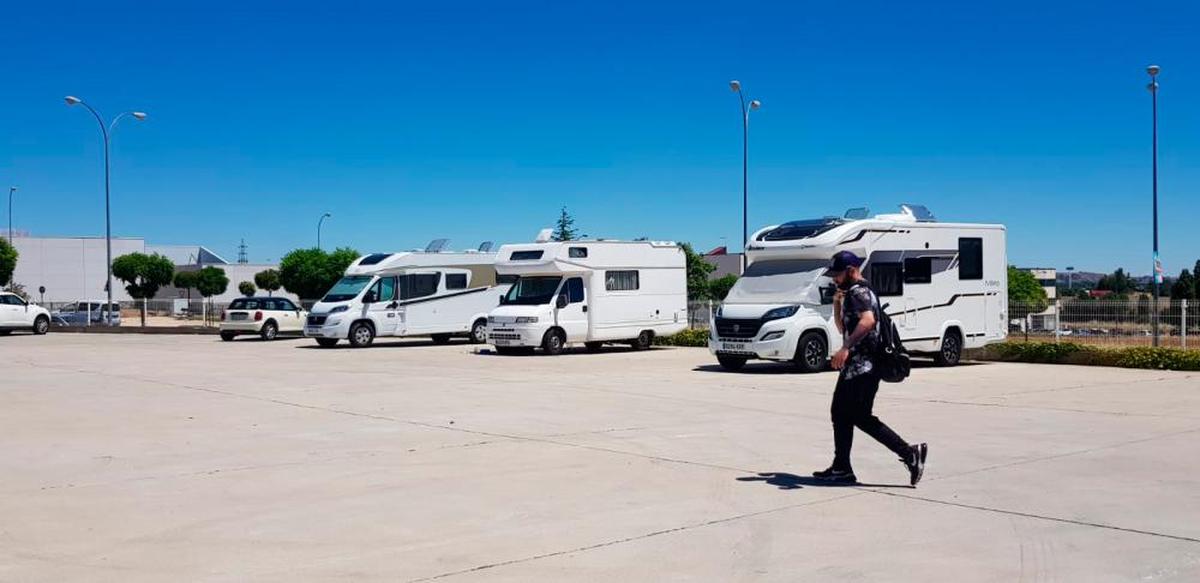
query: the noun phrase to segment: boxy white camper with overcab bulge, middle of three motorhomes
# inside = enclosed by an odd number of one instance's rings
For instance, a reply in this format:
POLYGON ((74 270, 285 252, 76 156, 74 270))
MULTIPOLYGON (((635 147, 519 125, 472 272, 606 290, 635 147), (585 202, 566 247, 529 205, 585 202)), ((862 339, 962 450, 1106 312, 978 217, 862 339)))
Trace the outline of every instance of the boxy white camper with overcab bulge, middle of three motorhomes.
MULTIPOLYGON (((539 238, 541 239, 541 238, 539 238)), ((487 317, 500 354, 563 351, 582 342, 650 347, 688 327, 684 253, 673 242, 564 241, 505 245, 499 277, 516 277, 487 317)))

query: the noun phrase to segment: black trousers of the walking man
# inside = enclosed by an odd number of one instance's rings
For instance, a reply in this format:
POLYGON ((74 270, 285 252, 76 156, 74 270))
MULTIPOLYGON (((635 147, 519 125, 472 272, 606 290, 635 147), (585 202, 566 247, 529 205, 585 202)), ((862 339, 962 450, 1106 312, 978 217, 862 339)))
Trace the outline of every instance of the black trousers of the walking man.
POLYGON ((907 458, 908 441, 905 441, 883 425, 880 417, 871 413, 875 407, 875 393, 880 390, 880 378, 874 373, 859 374, 852 379, 845 372, 838 377, 838 386, 833 390, 833 405, 829 415, 833 417, 833 444, 835 469, 850 470, 850 449, 854 444, 854 427, 871 435, 889 450, 907 458))

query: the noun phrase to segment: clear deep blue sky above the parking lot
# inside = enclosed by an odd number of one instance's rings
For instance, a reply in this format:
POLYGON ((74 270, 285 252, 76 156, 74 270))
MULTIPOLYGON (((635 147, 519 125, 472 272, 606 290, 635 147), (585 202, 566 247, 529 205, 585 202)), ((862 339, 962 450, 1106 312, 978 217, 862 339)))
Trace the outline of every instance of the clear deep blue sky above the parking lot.
POLYGON ((1150 271, 1150 96, 1163 67, 1162 256, 1200 257, 1195 2, 14 2, 0 184, 17 228, 230 260, 592 236, 740 245, 751 228, 920 202, 1002 222, 1022 265, 1150 271), (178 5, 178 6, 176 6, 178 5), (653 6, 650 6, 653 5, 653 6), (7 188, 5 188, 5 192, 7 188), (724 239, 722 239, 724 238, 724 239))

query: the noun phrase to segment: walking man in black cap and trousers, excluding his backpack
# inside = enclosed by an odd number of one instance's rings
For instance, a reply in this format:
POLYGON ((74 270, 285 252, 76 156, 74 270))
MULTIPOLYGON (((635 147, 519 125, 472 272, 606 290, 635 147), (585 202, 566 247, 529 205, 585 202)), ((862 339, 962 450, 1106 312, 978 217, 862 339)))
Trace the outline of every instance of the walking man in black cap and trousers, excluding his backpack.
POLYGON ((872 357, 880 344, 876 323, 880 300, 863 280, 863 259, 848 251, 833 256, 826 275, 838 286, 833 300, 833 320, 842 335, 841 349, 833 355, 832 366, 841 371, 833 390, 833 465, 812 476, 830 482, 854 483, 858 479, 850 465, 850 447, 854 427, 900 456, 908 468, 908 482, 917 486, 925 471, 925 444, 910 445, 871 413, 880 377, 874 371, 872 357))

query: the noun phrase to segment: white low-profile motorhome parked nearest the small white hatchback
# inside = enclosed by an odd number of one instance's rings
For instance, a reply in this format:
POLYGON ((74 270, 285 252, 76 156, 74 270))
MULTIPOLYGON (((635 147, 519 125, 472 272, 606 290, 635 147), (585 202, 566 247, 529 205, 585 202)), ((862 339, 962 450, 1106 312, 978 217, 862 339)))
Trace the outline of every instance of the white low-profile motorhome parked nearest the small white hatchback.
POLYGON ((359 258, 312 307, 304 333, 323 347, 377 336, 464 336, 484 342, 487 313, 509 287, 496 282, 496 253, 415 251, 359 258))

